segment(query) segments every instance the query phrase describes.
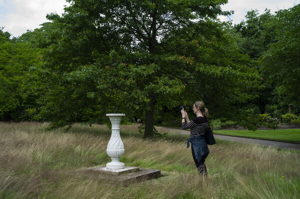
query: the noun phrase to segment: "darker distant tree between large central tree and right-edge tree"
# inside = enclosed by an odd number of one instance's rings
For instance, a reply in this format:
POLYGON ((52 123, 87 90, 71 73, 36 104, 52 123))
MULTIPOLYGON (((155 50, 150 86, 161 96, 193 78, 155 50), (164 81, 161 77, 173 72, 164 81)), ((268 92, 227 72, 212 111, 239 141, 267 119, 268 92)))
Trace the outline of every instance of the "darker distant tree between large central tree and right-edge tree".
MULTIPOLYGON (((258 97, 251 102, 250 107, 259 107, 259 112, 265 112, 265 107, 278 104, 278 96, 274 92, 275 84, 269 81, 268 73, 261 70, 261 59, 271 44, 277 42, 281 35, 281 27, 277 22, 276 16, 265 9, 264 13, 258 15, 258 10, 250 10, 245 15, 246 20, 234 25, 240 34, 237 44, 242 53, 248 54, 256 62, 256 68, 260 71, 262 87, 257 92, 258 97)), ((281 105, 280 105, 281 106, 281 105)), ((279 106, 278 106, 279 107, 279 106)), ((266 112, 265 112, 266 113, 266 112)))

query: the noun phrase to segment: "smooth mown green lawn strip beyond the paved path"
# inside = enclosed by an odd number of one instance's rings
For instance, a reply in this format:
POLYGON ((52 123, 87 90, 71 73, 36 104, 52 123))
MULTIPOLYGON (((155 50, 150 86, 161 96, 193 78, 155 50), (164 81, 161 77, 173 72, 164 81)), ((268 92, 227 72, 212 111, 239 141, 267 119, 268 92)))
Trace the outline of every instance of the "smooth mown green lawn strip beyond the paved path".
POLYGON ((214 134, 258 138, 265 140, 275 140, 284 142, 300 142, 300 129, 276 129, 276 130, 214 130, 214 134))

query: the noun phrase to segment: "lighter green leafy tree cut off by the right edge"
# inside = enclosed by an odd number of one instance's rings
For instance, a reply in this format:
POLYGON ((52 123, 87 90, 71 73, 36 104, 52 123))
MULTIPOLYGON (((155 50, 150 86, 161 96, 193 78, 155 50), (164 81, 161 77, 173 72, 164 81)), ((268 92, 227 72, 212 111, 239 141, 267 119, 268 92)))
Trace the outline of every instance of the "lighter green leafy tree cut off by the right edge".
POLYGON ((281 32, 276 42, 261 57, 261 71, 275 85, 274 93, 283 105, 300 104, 300 4, 276 12, 276 27, 281 32))

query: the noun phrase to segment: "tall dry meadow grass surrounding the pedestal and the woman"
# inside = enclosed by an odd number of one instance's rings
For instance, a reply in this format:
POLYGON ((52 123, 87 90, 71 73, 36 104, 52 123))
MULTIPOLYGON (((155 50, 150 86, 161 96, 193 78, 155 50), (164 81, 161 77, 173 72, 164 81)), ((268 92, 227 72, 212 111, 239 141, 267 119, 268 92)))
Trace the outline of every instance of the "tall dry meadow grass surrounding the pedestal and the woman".
POLYGON ((199 177, 187 135, 145 140, 121 126, 125 166, 159 169, 163 177, 127 187, 80 170, 110 162, 104 125, 39 131, 47 124, 0 123, 0 199, 298 199, 300 152, 217 140, 207 177, 199 177))

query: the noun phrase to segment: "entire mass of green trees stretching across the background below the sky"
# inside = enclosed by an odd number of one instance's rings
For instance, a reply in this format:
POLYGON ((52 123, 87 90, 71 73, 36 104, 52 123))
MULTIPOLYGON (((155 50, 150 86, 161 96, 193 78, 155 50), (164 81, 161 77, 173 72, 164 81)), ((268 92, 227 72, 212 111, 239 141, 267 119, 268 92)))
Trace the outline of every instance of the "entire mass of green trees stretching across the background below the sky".
POLYGON ((18 38, 0 29, 0 120, 55 129, 109 123, 105 113, 118 107, 152 137, 154 124, 175 124, 178 107, 195 100, 220 128, 276 125, 287 105, 300 110, 299 5, 250 10, 233 28, 216 19, 230 14, 226 0, 68 2, 18 38), (272 118, 248 118, 260 113, 272 118))

